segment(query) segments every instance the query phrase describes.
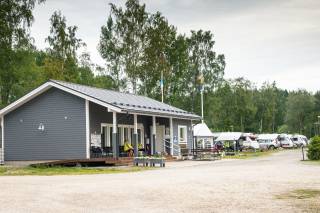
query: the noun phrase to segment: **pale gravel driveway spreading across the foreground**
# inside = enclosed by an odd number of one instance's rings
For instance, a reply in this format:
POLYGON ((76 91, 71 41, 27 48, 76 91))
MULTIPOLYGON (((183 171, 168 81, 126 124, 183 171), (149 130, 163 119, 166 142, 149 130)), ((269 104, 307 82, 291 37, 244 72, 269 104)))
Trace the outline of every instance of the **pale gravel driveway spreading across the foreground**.
POLYGON ((139 173, 0 177, 0 212, 303 212, 308 200, 276 198, 320 190, 320 166, 300 158, 295 150, 139 173))

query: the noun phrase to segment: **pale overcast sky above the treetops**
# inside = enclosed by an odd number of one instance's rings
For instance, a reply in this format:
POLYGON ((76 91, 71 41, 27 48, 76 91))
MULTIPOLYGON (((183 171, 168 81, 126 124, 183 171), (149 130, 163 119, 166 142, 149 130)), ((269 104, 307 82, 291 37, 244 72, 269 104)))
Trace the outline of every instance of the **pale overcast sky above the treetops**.
MULTIPOLYGON (((34 11, 31 34, 36 46, 47 47, 49 18, 61 10, 68 25, 77 25, 94 63, 100 27, 112 0, 47 0, 34 11)), ((320 90, 319 0, 145 0, 147 11, 160 11, 180 33, 211 30, 217 53, 226 57, 226 78, 245 77, 260 86, 276 81, 289 90, 320 90)))

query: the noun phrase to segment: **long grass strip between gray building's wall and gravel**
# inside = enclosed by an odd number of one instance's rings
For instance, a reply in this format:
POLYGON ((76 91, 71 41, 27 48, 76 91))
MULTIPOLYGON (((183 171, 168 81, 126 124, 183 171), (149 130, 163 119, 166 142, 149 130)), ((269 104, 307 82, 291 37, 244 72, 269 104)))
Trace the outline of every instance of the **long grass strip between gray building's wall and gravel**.
POLYGON ((90 175, 90 174, 114 174, 139 172, 150 170, 149 167, 107 167, 107 168, 85 168, 85 167, 0 167, 0 176, 23 176, 23 175, 90 175))

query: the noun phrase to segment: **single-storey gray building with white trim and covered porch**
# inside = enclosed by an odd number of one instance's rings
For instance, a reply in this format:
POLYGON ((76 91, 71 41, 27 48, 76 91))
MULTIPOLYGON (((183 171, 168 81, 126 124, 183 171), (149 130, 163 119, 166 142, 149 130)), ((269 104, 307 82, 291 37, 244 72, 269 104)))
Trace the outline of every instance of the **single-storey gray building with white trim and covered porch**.
MULTIPOLYGON (((148 97, 51 80, 0 111, 0 161, 90 159, 191 149, 198 115, 148 97)), ((0 162, 1 163, 1 162, 0 162)))

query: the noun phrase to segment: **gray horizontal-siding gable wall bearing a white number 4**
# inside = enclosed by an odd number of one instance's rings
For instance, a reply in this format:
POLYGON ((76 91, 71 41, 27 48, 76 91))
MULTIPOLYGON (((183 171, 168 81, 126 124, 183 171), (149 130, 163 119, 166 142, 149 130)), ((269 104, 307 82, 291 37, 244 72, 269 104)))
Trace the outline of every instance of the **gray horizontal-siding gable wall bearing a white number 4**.
POLYGON ((85 100, 56 88, 5 115, 5 160, 86 157, 85 100), (44 131, 38 130, 39 124, 44 131))

